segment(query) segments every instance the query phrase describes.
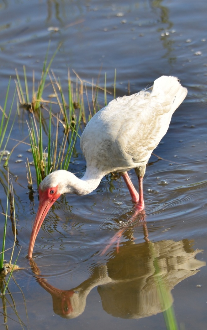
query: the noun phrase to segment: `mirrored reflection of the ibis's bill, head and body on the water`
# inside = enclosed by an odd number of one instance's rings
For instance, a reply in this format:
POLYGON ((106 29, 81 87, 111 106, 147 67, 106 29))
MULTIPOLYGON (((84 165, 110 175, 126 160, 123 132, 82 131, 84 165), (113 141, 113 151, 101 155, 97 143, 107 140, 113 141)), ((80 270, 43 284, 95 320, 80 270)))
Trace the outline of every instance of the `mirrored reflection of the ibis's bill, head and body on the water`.
POLYGON ((39 277, 36 263, 30 262, 38 283, 52 296, 54 313, 65 318, 81 315, 89 292, 97 286, 103 309, 108 314, 141 318, 171 306, 174 286, 206 265, 195 258, 198 252, 201 250, 193 251, 189 240, 141 244, 127 241, 119 248, 119 253, 113 251, 106 264, 94 267, 91 276, 71 290, 60 290, 50 285, 46 279, 39 277), (168 306, 160 301, 157 276, 164 283, 169 297, 168 306))

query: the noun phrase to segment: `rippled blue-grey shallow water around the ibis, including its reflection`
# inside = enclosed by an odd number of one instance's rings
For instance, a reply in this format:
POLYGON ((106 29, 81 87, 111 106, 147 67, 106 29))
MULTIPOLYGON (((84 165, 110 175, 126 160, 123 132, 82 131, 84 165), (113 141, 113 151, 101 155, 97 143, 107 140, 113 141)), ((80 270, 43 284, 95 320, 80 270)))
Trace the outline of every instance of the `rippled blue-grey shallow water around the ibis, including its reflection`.
MULTIPOLYGON (((26 255, 38 194, 34 194, 34 201, 29 199, 25 167, 26 157, 32 160, 29 146, 21 143, 13 151, 9 169, 14 175, 18 220, 15 256, 22 247, 18 266, 23 269, 14 273, 9 285, 13 301, 10 295, 5 305, 2 300, 2 329, 165 329, 153 284, 155 256, 178 324, 186 329, 206 329, 206 30, 205 0, 2 1, 1 106, 10 76, 13 96, 15 68, 23 84, 26 66, 30 90, 32 70, 36 82, 40 80, 49 40, 49 56, 62 42, 52 70, 64 90, 68 68, 72 77, 75 70, 90 82, 92 78, 96 81, 101 69, 99 83, 104 86, 106 72, 111 92, 116 68, 117 96, 127 93, 128 81, 133 93, 163 74, 177 76, 188 88, 187 98, 154 151, 161 159, 152 155, 144 177, 150 242, 144 240, 146 227, 138 221, 128 223, 119 253, 113 244, 101 255, 133 213, 124 182, 109 175, 90 195, 62 196, 54 204, 35 243, 35 263, 30 265, 26 255), (21 163, 16 162, 19 159, 21 163)), ((49 93, 46 90, 44 97, 49 93)), ((104 103, 102 94, 99 103, 104 103)), ((7 149, 17 144, 14 140, 26 138, 29 143, 29 116, 21 109, 7 149)), ((70 169, 81 176, 85 161, 79 142, 76 151, 70 169)), ((2 162, 1 232, 6 175, 2 162)), ((35 178, 34 169, 32 175, 35 178)), ((137 181, 134 171, 130 177, 137 181)), ((6 248, 13 242, 8 222, 6 248)), ((7 251, 5 258, 9 256, 7 251)))

